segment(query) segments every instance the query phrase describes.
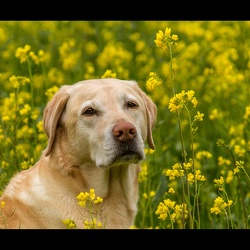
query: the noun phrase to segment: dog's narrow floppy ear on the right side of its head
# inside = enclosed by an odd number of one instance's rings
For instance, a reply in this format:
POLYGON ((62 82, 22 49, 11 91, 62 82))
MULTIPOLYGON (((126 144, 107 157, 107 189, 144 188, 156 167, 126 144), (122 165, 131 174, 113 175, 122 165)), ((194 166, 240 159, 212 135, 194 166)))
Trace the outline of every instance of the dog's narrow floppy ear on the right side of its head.
POLYGON ((143 92, 141 91, 142 99, 145 103, 146 113, 147 113, 147 141, 151 149, 155 149, 155 144, 152 136, 152 130, 155 126, 157 119, 157 107, 155 103, 143 92))

